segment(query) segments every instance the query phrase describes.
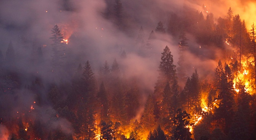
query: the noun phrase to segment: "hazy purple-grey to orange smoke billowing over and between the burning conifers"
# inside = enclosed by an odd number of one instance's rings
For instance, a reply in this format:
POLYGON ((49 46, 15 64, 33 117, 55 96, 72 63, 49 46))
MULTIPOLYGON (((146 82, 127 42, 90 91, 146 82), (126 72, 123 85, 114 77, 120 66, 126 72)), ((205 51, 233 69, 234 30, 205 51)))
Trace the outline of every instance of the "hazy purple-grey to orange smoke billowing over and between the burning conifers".
MULTIPOLYGON (((113 3, 113 0, 109 3, 113 3)), ((122 4, 129 31, 120 31, 111 17, 110 19, 104 17, 104 12, 109 6, 108 2, 104 0, 0 1, 0 50, 5 56, 9 42, 13 42, 15 53, 21 58, 16 62, 19 68, 18 72, 22 73, 22 77, 19 78, 25 83, 19 86, 24 87, 26 84, 31 84, 31 81, 34 80, 31 78, 33 76, 40 77, 43 83, 52 82, 49 76, 52 68, 48 65, 52 60, 52 40, 49 37, 55 24, 60 27, 64 38, 68 39, 68 45, 66 45, 68 68, 65 69, 66 73, 75 72, 78 64, 83 65, 87 60, 90 61, 94 73, 97 73, 104 61, 112 64, 116 58, 124 77, 139 77, 139 87, 141 90, 147 91, 144 95, 146 97, 149 94, 148 91, 154 90, 160 56, 165 46, 170 48, 174 63, 178 65, 178 39, 168 34, 156 34, 157 39, 148 40, 150 32, 154 31, 159 21, 164 23, 165 30, 167 30, 170 13, 182 14, 183 8, 186 6, 196 11, 196 9, 202 9, 204 4, 211 13, 214 13, 215 18, 219 16, 225 18, 228 8, 231 7, 234 14, 239 13, 241 19, 245 19, 247 27, 256 20, 256 17, 251 16, 256 12, 254 8, 256 3, 253 0, 122 0, 122 4), (144 42, 146 44, 144 46, 136 43, 141 26, 144 29, 144 42), (31 66, 31 58, 28 56, 33 51, 34 43, 36 47, 42 47, 44 62, 31 66), (123 51, 126 52, 126 58, 121 56, 123 51)), ((185 54, 185 64, 190 67, 188 76, 191 76, 197 69, 201 79, 208 77, 211 79, 217 65, 216 60, 221 57, 219 55, 220 50, 207 50, 203 46, 200 50, 200 44, 194 42, 193 37, 188 35, 188 39, 191 50, 194 51, 185 54), (207 55, 213 55, 216 60, 202 59, 207 55)), ((72 74, 65 76, 66 79, 70 79, 72 74)), ((180 83, 180 85, 184 84, 180 83)), ((30 108, 33 105, 34 108, 37 108, 37 104, 34 105, 36 98, 34 93, 25 90, 20 92, 21 94, 17 97, 6 96, 6 104, 11 104, 9 106, 12 112, 10 113, 11 116, 16 117, 17 111, 24 111, 22 107, 30 108), (16 100, 13 101, 12 98, 16 100), (8 103, 8 101, 10 102, 8 103)), ((142 103, 145 102, 145 97, 142 103)), ((6 106, 5 102, 1 102, 1 105, 6 106)), ((5 109, 8 110, 7 107, 5 109)), ((42 114, 46 114, 45 117, 41 118, 46 125, 49 118, 56 115, 56 111, 50 106, 44 106, 40 109, 42 114)), ((140 115, 136 118, 139 118, 140 115)), ((57 129, 59 126, 65 132, 71 133, 70 124, 67 120, 61 119, 53 123, 52 129, 57 129)), ((0 125, 0 139, 7 139, 7 135, 6 127, 0 125)))

